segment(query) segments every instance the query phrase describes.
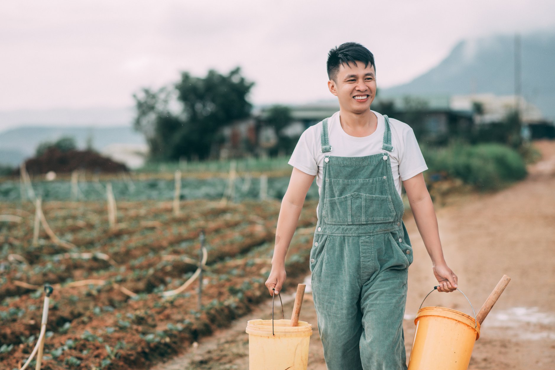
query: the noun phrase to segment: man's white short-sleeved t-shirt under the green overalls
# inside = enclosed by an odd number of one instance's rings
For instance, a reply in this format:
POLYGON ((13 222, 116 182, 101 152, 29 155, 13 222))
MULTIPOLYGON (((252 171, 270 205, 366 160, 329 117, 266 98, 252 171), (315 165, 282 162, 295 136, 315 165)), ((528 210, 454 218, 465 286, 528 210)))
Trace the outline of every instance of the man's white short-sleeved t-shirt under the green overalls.
MULTIPOLYGON (((384 142, 385 118, 378 112, 372 112, 378 118, 377 128, 375 132, 365 137, 350 136, 343 131, 339 121, 339 112, 335 112, 327 120, 329 143, 333 150, 325 154, 337 157, 364 157, 384 153, 382 143, 384 142)), ((393 118, 389 118, 389 126, 391 128, 391 146, 393 147, 393 151, 390 153, 391 172, 395 188, 401 194, 401 180, 405 181, 416 176, 418 173, 426 171, 428 167, 412 128, 393 118)), ((317 175, 318 193, 322 187, 324 172, 324 153, 320 150, 322 127, 322 122, 319 122, 307 128, 301 134, 291 159, 287 162, 302 172, 317 175)))

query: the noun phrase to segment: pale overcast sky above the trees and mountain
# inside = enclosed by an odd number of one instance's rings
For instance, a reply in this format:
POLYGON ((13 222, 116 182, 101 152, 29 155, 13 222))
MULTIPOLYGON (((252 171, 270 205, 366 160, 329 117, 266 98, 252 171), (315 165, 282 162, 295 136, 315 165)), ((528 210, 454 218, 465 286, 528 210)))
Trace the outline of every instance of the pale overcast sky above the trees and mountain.
POLYGON ((326 56, 343 42, 369 48, 389 87, 461 39, 554 29, 553 14, 553 0, 2 1, 0 111, 132 106, 180 71, 235 66, 255 104, 330 99, 326 56))

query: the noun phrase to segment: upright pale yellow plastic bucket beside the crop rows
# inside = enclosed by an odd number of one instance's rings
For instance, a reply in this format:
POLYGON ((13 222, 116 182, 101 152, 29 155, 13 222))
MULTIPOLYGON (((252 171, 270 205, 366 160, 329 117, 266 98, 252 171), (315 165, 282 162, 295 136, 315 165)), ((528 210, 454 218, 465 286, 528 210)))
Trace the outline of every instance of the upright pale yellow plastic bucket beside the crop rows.
POLYGON ((295 327, 289 326, 290 319, 249 320, 250 370, 306 370, 309 361, 309 342, 312 325, 299 321, 295 327))

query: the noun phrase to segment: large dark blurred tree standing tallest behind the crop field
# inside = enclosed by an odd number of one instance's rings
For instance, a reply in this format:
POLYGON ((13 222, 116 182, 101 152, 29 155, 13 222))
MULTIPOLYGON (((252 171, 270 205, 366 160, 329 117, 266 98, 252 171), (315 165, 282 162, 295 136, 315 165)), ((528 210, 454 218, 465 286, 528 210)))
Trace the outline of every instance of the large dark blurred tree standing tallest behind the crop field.
POLYGON ((134 94, 134 127, 145 134, 151 159, 214 155, 215 146, 224 140, 221 128, 250 115, 252 105, 246 97, 254 83, 240 72, 239 67, 226 75, 210 70, 204 78, 183 72, 175 86, 134 94))

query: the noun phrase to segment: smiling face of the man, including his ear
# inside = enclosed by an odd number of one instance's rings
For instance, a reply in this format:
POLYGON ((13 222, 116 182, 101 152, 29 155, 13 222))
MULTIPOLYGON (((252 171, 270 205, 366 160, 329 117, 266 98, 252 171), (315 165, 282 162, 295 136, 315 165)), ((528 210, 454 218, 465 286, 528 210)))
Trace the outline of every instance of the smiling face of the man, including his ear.
POLYGON ((330 92, 339 99, 343 111, 362 113, 370 109, 376 97, 374 66, 357 61, 356 66, 341 64, 337 76, 327 82, 330 92))

